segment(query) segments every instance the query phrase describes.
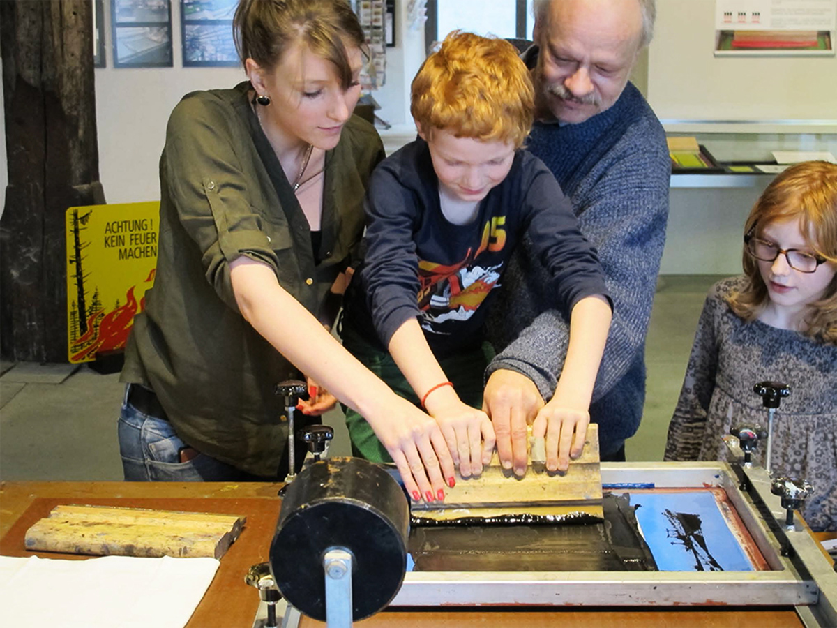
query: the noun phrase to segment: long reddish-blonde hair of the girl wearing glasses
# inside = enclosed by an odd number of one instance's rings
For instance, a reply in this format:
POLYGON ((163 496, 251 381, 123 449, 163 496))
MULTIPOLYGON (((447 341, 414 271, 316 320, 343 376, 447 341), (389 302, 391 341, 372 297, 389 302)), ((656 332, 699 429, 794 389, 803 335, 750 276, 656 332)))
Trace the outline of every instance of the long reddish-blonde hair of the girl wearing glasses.
MULTIPOLYGON (((778 219, 799 220, 799 231, 815 255, 826 264, 837 264, 837 165, 828 162, 798 163, 774 178, 753 205, 744 233, 759 237, 778 219)), ((733 295, 730 306, 739 317, 752 321, 768 303, 758 260, 744 250, 747 285, 733 295)), ((837 274, 823 298, 811 303, 805 317, 806 336, 837 344, 837 274)))

